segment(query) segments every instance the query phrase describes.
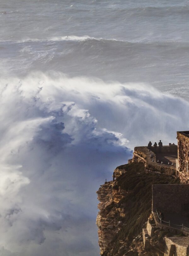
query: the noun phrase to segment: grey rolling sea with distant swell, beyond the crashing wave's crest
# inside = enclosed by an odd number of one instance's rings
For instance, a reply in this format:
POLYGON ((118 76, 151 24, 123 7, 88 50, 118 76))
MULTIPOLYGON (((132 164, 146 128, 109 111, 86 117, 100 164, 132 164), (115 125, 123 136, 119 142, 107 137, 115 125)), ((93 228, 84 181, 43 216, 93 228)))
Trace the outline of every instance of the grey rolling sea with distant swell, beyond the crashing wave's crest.
POLYGON ((188 12, 188 1, 2 1, 1 74, 56 70, 188 99, 188 12))

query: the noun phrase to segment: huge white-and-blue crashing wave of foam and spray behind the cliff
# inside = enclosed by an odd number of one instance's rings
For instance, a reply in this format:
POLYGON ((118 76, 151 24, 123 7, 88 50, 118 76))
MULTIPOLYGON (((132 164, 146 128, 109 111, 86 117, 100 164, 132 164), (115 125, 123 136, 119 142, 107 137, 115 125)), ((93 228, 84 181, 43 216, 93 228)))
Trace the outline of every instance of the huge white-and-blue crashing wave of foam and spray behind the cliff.
POLYGON ((0 252, 95 256, 99 184, 131 157, 127 147, 173 142, 189 104, 145 84, 60 73, 0 88, 0 252))

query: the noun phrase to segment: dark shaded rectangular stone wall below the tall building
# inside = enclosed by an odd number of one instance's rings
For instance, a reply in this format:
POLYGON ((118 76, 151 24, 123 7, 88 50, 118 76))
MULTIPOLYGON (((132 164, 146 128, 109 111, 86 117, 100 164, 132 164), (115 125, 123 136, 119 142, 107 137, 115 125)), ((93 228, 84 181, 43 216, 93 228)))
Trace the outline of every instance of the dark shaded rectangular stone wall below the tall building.
POLYGON ((164 213, 188 214, 183 208, 189 204, 189 184, 152 185, 152 210, 164 213))

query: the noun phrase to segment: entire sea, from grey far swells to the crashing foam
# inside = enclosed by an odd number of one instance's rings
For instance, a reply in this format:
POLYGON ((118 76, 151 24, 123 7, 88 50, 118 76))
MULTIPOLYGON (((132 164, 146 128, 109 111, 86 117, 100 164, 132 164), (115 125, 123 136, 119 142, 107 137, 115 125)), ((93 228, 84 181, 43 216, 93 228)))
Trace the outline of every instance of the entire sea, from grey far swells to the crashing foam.
POLYGON ((189 129, 189 1, 0 0, 0 253, 97 256, 96 190, 189 129))

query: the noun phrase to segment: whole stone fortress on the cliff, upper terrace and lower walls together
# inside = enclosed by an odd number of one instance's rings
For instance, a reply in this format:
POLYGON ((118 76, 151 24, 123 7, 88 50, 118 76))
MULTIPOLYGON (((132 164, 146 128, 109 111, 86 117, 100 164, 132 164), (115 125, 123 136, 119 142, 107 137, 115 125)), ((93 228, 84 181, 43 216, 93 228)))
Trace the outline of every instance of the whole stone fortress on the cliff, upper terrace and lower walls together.
MULTIPOLYGON (((132 162, 143 162, 146 171, 172 175, 180 179, 181 184, 152 185, 152 215, 156 226, 162 230, 171 231, 173 234, 176 234, 177 229, 180 229, 186 235, 186 237, 165 237, 164 256, 189 256, 189 228, 183 225, 184 221, 188 224, 189 216, 189 131, 178 131, 177 140, 178 148, 176 146, 164 146, 162 148, 161 155, 175 156, 175 164, 172 166, 168 166, 163 161, 160 164, 157 161, 157 158, 160 157, 156 152, 158 149, 154 151, 153 148, 149 150, 147 147, 136 147, 132 159, 132 162), (168 223, 162 222, 162 219, 159 221, 157 211, 163 212, 169 218, 172 217, 175 224, 171 224, 170 219, 168 223), (176 225, 180 221, 182 227, 176 225)), ((167 157, 167 159, 170 158, 167 157)), ((148 249, 153 230, 154 224, 151 224, 148 219, 146 228, 143 228, 145 249, 148 249)))

